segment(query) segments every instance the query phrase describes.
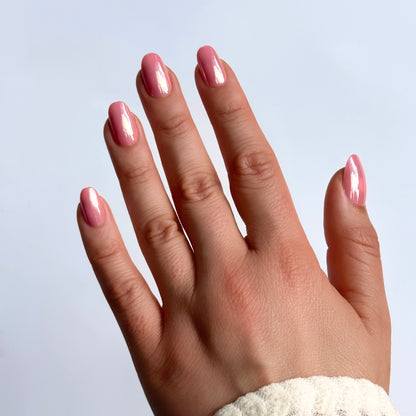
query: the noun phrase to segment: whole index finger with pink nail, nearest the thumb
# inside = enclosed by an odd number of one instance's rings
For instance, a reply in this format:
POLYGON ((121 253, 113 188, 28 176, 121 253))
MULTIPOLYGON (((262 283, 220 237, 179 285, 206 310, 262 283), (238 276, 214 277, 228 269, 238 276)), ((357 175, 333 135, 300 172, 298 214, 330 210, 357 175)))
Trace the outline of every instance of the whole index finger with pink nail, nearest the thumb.
POLYGON ((227 167, 231 193, 252 246, 303 236, 276 156, 231 68, 214 49, 198 51, 195 79, 227 167))

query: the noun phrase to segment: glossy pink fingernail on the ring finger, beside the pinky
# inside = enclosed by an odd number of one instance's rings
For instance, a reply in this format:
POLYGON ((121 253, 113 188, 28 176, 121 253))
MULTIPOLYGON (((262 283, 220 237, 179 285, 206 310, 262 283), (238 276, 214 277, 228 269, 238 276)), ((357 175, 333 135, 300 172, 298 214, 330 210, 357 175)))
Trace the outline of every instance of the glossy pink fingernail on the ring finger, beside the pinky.
POLYGON ((110 105, 108 120, 114 141, 120 146, 130 146, 138 138, 136 123, 127 104, 118 101, 110 105))

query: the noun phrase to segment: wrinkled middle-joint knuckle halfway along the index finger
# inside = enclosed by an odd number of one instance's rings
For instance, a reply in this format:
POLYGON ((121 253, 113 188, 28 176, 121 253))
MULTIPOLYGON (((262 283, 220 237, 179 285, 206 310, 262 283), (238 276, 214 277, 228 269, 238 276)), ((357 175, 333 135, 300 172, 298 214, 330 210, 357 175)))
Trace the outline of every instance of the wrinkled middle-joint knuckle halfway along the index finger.
POLYGON ((276 174, 276 159, 271 151, 250 151, 237 154, 230 165, 233 180, 271 180, 276 174))

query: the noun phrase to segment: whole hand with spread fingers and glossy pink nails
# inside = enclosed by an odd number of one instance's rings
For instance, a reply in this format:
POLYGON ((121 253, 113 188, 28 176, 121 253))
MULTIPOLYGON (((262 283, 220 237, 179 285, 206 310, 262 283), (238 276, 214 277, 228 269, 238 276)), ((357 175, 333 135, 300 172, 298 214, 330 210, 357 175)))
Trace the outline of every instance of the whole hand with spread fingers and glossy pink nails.
POLYGON ((206 416, 266 384, 312 375, 366 378, 388 391, 390 318, 358 158, 327 190, 328 279, 233 71, 210 47, 198 63, 196 85, 247 236, 175 75, 155 54, 143 58, 137 89, 176 212, 125 104, 111 105, 104 136, 162 306, 104 199, 86 188, 78 209, 85 249, 154 413, 206 416))

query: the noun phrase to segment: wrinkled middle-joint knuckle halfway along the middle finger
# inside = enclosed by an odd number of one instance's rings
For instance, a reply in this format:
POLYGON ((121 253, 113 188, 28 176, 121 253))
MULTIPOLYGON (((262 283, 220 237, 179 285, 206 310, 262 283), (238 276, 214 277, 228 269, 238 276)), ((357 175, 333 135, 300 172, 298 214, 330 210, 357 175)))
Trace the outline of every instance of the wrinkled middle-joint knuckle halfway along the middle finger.
POLYGON ((221 190, 215 174, 196 173, 185 175, 175 189, 176 198, 187 202, 198 202, 212 198, 221 190))

